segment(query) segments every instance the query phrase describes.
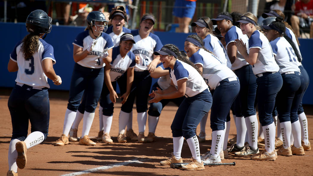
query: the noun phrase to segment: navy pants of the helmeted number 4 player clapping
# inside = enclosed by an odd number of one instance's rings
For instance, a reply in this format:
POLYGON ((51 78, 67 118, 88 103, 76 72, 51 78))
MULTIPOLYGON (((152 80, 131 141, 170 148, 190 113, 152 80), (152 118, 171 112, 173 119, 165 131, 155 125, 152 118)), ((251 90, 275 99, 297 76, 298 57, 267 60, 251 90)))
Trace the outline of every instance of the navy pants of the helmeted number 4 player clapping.
POLYGON ((85 94, 85 111, 95 112, 101 95, 103 80, 104 68, 92 69, 75 63, 69 88, 67 109, 76 112, 85 94))

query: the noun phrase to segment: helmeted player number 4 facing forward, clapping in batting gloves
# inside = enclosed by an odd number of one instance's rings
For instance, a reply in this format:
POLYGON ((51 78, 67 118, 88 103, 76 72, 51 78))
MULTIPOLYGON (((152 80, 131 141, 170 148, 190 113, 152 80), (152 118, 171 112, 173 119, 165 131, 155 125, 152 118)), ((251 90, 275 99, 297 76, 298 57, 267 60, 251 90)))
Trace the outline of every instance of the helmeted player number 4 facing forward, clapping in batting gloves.
POLYGON ((68 134, 74 122, 75 116, 83 116, 84 123, 80 144, 96 145, 88 137, 92 121, 95 117, 101 95, 104 66, 112 60, 112 39, 105 34, 107 21, 103 13, 99 11, 90 12, 87 16, 88 27, 84 32, 77 35, 73 42, 74 65, 71 86, 69 90, 69 103, 64 117, 62 136, 56 141, 57 146, 69 143, 68 134), (77 112, 83 94, 86 97, 84 113, 77 112))

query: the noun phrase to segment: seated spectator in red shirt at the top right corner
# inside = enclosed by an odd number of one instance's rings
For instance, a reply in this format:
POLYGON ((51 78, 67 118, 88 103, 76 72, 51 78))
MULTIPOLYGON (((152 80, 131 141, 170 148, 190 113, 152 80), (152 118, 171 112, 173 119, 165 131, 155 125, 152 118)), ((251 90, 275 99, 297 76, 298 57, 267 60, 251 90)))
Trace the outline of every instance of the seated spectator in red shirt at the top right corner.
POLYGON ((310 28, 310 38, 313 38, 313 0, 300 0, 295 3, 295 15, 291 16, 291 26, 295 35, 300 37, 300 28, 310 28))

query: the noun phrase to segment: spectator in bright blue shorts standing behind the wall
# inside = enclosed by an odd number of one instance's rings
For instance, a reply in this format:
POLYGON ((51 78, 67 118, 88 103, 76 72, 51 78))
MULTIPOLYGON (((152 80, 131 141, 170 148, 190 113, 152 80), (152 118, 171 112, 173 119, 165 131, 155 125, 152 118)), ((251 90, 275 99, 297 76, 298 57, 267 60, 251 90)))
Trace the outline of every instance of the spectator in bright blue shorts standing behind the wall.
POLYGON ((173 15, 178 21, 176 32, 189 33, 189 24, 196 10, 197 0, 175 0, 173 15))

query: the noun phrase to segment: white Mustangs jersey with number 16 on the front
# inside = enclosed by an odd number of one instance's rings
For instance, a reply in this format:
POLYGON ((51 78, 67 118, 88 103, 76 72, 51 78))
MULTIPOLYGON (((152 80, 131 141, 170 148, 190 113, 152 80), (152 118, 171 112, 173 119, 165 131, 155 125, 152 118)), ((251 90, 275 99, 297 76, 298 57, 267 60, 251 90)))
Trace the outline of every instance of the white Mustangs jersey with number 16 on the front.
POLYGON ((136 64, 135 71, 147 70, 148 65, 153 60, 153 52, 159 51, 163 44, 159 37, 152 33, 144 39, 141 39, 138 29, 132 30, 131 34, 133 34, 136 42, 131 51, 135 54, 135 56, 139 56, 140 58, 140 63, 136 64))

